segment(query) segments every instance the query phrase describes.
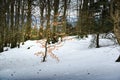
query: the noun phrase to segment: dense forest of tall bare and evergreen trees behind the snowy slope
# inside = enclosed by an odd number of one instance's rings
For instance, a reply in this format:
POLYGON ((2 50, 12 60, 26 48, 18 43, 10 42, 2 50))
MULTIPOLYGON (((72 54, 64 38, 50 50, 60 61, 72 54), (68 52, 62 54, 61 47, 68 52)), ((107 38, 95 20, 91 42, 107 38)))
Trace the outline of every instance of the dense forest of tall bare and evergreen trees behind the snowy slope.
POLYGON ((5 46, 20 47, 20 42, 29 39, 65 35, 111 32, 120 43, 119 4, 119 0, 1 0, 0 52, 5 46), (69 22, 71 14, 74 25, 69 22))

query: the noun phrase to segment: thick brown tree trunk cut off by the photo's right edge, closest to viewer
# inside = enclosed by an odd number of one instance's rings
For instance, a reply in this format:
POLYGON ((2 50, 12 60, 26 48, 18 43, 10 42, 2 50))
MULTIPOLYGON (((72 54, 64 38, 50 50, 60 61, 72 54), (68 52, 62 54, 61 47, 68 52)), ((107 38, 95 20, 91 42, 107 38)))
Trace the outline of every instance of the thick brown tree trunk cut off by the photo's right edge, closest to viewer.
MULTIPOLYGON (((110 1, 110 14, 114 24, 114 33, 117 38, 118 44, 120 45, 120 1, 111 0, 110 1)), ((120 56, 116 60, 120 62, 120 56)))

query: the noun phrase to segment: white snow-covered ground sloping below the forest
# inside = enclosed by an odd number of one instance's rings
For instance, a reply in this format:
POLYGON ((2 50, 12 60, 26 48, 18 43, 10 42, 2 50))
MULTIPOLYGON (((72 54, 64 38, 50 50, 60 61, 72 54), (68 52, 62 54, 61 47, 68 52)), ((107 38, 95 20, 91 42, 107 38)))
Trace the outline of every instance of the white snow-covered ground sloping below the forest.
POLYGON ((36 41, 27 41, 21 48, 0 53, 0 80, 120 80, 119 47, 108 39, 100 40, 100 48, 89 48, 90 37, 62 43, 53 53, 59 62, 47 62, 35 53, 43 51, 36 41), (30 49, 27 49, 30 47, 30 49))

